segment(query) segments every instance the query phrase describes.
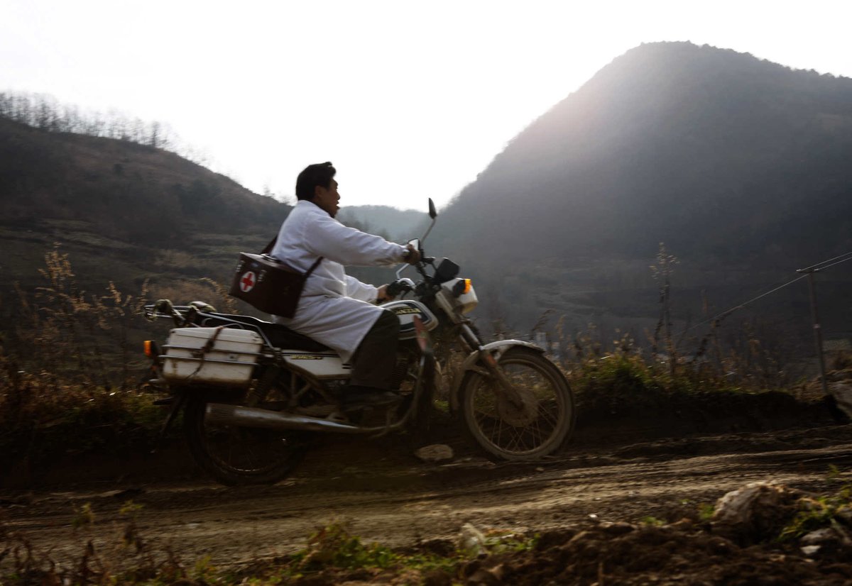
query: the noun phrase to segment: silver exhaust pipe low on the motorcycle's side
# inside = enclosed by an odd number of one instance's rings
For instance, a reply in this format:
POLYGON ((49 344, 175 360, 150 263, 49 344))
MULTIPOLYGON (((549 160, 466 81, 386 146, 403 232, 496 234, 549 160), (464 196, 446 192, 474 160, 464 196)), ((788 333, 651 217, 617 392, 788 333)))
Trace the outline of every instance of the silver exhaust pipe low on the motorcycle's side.
POLYGON ((338 434, 363 434, 366 431, 348 423, 333 422, 328 419, 320 419, 320 417, 293 415, 292 413, 280 413, 268 409, 224 403, 208 403, 204 419, 211 423, 235 425, 243 428, 331 431, 338 434))

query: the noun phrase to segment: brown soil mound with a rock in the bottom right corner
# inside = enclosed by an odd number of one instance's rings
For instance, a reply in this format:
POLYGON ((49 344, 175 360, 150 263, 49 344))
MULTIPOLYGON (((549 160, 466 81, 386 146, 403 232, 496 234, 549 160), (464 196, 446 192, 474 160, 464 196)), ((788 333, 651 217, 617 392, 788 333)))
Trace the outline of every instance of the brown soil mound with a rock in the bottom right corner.
POLYGON ((849 584, 848 494, 815 499, 751 483, 720 498, 710 520, 695 510, 665 524, 598 523, 545 533, 533 552, 463 567, 469 584, 849 584), (839 500, 838 500, 839 499, 839 500), (842 504, 838 504, 842 503, 842 504), (817 510, 815 507, 820 508, 817 510), (809 531, 803 520, 819 529, 809 531))

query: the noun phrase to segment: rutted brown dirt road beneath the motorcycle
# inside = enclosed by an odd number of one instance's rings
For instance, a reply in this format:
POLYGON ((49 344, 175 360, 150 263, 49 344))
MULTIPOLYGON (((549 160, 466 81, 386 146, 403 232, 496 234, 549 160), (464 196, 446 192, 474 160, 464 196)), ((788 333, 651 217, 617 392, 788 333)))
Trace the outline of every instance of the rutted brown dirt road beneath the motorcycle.
POLYGON ((228 566, 300 549, 312 531, 334 521, 368 541, 401 546, 454 539, 465 522, 544 531, 665 519, 755 480, 836 490, 852 477, 850 465, 852 426, 569 449, 536 465, 475 457, 426 464, 400 446, 365 442, 320 446, 279 485, 179 480, 16 491, 0 495, 0 515, 55 560, 79 555, 89 540, 101 552, 120 547, 135 515, 139 535, 157 549, 228 566), (135 513, 130 501, 139 505, 135 513), (75 519, 83 526, 75 528, 75 519))

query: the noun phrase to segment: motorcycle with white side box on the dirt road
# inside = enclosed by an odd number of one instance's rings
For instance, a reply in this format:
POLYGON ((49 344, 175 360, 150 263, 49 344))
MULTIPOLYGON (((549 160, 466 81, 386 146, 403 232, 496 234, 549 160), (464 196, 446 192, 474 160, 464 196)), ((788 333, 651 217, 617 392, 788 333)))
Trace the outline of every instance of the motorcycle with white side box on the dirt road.
MULTIPOLYGON (((453 370, 448 400, 463 434, 492 460, 530 461, 566 443, 574 426, 573 394, 544 349, 521 340, 484 343, 467 315, 478 300, 470 279, 449 259, 424 256, 432 223, 412 244, 421 253, 417 280, 396 272, 381 307, 400 319, 393 405, 346 405, 351 365, 331 348, 284 325, 216 313, 204 302, 145 307, 148 319, 172 319, 168 342, 148 341, 150 383, 170 394, 163 433, 183 411, 183 432, 199 466, 225 485, 274 483, 304 457, 311 436, 429 430, 438 356, 457 342, 466 356, 453 370), (406 298, 406 296, 412 298, 406 298), (435 343, 437 342, 437 344, 435 343)), ((458 362, 458 361, 457 361, 458 362)))

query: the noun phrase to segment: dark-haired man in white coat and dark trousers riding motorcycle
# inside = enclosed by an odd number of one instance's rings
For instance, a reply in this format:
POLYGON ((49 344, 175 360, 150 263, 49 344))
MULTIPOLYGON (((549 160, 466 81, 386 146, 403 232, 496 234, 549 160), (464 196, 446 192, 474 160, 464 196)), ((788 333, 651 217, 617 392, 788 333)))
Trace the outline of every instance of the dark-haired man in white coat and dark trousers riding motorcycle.
POLYGON ((394 244, 335 220, 340 201, 336 173, 331 163, 312 164, 296 179, 296 207, 281 225, 270 256, 302 273, 322 260, 305 282, 296 314, 273 319, 352 363, 345 405, 389 405, 398 399, 392 376, 400 322, 375 305, 391 299, 387 285, 361 283, 343 266, 415 264, 420 254, 412 244, 394 244))

